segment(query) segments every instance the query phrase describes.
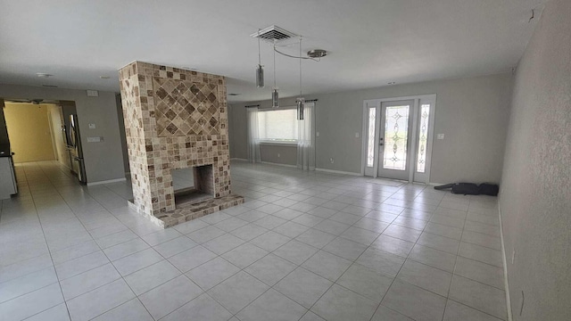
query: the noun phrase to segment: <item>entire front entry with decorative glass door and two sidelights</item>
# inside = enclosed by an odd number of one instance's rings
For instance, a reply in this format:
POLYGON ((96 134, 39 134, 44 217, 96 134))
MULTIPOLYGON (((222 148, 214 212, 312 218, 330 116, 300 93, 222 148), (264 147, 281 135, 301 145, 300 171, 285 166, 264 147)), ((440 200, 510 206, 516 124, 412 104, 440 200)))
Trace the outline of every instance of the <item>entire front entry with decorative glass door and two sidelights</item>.
POLYGON ((428 183, 436 95, 363 102, 362 174, 428 183))

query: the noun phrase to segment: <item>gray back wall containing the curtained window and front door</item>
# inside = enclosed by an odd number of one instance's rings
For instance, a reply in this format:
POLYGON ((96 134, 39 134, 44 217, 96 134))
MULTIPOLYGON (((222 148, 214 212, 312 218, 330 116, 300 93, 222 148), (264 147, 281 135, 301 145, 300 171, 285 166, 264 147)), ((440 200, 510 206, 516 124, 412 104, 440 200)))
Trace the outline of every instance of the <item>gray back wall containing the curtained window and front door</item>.
MULTIPOLYGON (((431 182, 499 182, 509 120, 511 74, 434 80, 350 92, 309 95, 316 103, 319 169, 360 172, 363 100, 436 94, 431 182), (331 164, 329 159, 333 158, 331 164)), ((257 102, 269 108, 269 101, 257 102)), ((245 128, 244 105, 235 103, 230 128, 245 128)), ((294 98, 280 101, 294 105, 294 98)), ((246 131, 231 132, 232 157, 246 158, 246 131)))

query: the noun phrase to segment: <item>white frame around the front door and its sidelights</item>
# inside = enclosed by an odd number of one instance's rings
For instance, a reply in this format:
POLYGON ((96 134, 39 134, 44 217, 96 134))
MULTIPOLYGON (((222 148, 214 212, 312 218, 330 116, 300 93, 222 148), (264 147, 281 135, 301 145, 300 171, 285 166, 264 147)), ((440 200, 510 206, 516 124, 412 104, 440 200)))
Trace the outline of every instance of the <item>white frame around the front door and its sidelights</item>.
MULTIPOLYGON (((426 139, 426 167, 425 173, 419 175, 424 177, 424 183, 430 183, 430 167, 432 161, 432 146, 433 146, 433 137, 434 137, 434 116, 436 111, 436 94, 431 95, 411 95, 411 96, 401 96, 401 97, 389 97, 389 98, 378 98, 378 99, 368 99, 363 101, 363 123, 362 123, 362 146, 361 146, 361 169, 360 174, 365 176, 365 168, 367 166, 367 124, 368 124, 368 108, 371 107, 380 107, 381 103, 384 102, 393 102, 393 101, 401 101, 401 100, 414 100, 414 108, 413 108, 413 122, 411 131, 412 139, 410 148, 414 151, 415 157, 409 158, 409 166, 410 166, 410 173, 409 173, 409 182, 414 181, 414 175, 416 172, 416 161, 417 161, 417 141, 418 141, 418 112, 420 110, 419 106, 421 103, 430 103, 430 114, 428 116, 428 137, 426 139)), ((381 115, 377 115, 377 123, 380 123, 381 115)), ((375 126, 375 161, 373 164, 373 177, 377 178, 378 175, 378 161, 380 156, 378 155, 378 141, 380 136, 380 128, 379 126, 375 126)))

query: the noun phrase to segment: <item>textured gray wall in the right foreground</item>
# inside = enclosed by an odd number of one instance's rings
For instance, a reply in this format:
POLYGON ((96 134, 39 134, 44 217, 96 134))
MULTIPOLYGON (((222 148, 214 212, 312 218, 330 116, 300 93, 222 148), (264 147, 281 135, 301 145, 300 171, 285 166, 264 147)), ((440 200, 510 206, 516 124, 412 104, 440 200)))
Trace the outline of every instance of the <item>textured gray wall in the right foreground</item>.
POLYGON ((517 67, 500 198, 514 320, 571 320, 569 17, 548 2, 517 67))

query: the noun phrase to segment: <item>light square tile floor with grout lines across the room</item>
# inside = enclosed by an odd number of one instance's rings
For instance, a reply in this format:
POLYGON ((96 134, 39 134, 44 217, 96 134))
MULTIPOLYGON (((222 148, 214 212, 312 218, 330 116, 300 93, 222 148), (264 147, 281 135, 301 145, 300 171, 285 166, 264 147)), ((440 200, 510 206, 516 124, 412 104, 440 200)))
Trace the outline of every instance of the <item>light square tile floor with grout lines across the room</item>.
POLYGON ((17 166, 0 212, 1 320, 498 320, 496 199, 232 163, 246 202, 166 230, 128 183, 17 166))

